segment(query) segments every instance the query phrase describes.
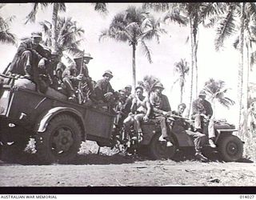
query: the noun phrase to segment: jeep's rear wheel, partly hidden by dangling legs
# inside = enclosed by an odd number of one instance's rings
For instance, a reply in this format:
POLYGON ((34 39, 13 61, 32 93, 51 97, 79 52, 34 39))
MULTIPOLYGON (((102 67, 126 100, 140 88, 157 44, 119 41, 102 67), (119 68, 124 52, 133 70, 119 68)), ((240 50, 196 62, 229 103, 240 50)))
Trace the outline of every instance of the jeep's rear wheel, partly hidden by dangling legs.
POLYGON ((173 158, 177 147, 175 145, 167 147, 166 142, 159 142, 158 139, 160 136, 161 134, 154 134, 153 138, 151 139, 149 145, 150 158, 154 160, 162 158, 173 158))

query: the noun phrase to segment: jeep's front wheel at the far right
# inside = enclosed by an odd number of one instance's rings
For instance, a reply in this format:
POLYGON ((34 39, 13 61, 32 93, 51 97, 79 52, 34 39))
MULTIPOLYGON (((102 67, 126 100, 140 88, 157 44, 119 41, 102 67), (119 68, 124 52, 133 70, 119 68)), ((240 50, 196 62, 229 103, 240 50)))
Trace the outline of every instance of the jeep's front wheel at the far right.
POLYGON ((235 162, 242 158, 243 144, 242 141, 234 135, 227 135, 220 140, 218 152, 223 161, 235 162))

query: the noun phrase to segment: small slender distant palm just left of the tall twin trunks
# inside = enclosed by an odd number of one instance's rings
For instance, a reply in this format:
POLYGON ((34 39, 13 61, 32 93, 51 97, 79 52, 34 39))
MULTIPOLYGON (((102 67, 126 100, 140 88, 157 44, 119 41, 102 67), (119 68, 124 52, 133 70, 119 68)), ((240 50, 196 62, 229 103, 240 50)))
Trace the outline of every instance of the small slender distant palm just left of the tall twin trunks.
MULTIPOLYGON (((180 62, 174 63, 174 73, 178 74, 178 78, 174 81, 174 84, 176 82, 179 82, 180 90, 181 90, 181 98, 180 102, 182 103, 182 97, 183 97, 183 91, 184 86, 186 82, 186 74, 188 74, 190 71, 190 67, 188 66, 188 63, 185 59, 181 59, 180 62)), ((174 86, 173 84, 173 86, 174 86)))

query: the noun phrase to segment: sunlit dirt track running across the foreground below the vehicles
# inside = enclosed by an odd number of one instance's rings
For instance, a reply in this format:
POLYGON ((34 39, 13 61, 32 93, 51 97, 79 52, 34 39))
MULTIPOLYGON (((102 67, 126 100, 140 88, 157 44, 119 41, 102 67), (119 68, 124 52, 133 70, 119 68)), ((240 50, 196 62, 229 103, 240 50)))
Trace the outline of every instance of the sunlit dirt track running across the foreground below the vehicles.
MULTIPOLYGON (((29 160, 29 162, 27 162, 29 160)), ((1 162, 0 186, 255 186, 256 164, 79 155, 70 165, 1 162)))

